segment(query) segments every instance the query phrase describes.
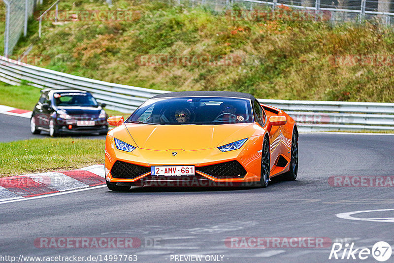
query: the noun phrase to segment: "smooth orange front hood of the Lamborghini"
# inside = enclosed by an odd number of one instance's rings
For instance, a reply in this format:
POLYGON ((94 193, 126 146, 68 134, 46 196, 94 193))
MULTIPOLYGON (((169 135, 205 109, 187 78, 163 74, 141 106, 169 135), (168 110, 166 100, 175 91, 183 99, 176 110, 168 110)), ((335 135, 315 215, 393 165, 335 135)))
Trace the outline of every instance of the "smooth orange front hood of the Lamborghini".
POLYGON ((250 137, 255 124, 143 125, 125 124, 138 148, 166 151, 211 149, 250 137))

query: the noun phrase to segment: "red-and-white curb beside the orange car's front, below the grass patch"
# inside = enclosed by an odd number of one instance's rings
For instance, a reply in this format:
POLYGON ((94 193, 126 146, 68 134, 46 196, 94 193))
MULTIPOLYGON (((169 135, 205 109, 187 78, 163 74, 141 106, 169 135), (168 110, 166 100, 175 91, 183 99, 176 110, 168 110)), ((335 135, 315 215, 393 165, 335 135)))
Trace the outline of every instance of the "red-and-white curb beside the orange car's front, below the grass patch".
POLYGON ((90 188, 104 184, 103 164, 70 171, 2 177, 0 178, 0 202, 90 188))

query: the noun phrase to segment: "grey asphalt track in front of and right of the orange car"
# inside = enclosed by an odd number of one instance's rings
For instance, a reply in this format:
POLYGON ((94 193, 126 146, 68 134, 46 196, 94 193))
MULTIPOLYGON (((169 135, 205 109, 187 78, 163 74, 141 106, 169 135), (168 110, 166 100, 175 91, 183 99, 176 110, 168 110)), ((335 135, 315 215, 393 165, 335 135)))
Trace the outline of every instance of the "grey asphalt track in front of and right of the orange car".
MULTIPOLYGON (((3 132, 4 127, 2 136, 10 134, 3 132)), ((222 262, 229 263, 328 262, 331 245, 229 248, 224 241, 228 237, 328 237, 332 242, 347 239, 355 247, 371 248, 377 241, 393 246, 394 223, 336 216, 393 209, 393 187, 328 184, 328 178, 336 175, 394 175, 393 146, 393 135, 301 134, 297 180, 270 183, 265 189, 145 187, 121 193, 104 187, 0 204, 0 256, 137 255, 137 262, 180 262, 175 255, 203 255, 201 262, 206 262, 206 255, 219 255, 219 260, 223 256, 222 262), (34 240, 40 237, 137 237, 142 245, 37 248, 34 240), (153 239, 155 246, 150 245, 153 239)), ((394 212, 354 217, 394 218, 394 212)), ((362 262, 377 261, 369 255, 362 262)))

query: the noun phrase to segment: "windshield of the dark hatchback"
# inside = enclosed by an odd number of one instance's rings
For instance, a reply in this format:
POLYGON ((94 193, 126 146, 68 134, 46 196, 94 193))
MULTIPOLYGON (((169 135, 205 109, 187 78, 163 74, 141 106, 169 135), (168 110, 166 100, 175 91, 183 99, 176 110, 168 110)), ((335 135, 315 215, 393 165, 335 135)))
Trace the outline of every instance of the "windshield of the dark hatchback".
POLYGON ((55 93, 55 105, 60 107, 98 106, 96 99, 89 93, 55 93))

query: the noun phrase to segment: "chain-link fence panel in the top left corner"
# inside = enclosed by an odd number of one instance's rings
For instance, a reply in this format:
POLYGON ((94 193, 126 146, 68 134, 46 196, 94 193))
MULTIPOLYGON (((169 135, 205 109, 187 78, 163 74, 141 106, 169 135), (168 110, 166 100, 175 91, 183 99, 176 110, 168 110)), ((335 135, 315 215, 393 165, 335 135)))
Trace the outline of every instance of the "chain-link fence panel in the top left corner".
POLYGON ((28 19, 33 14, 35 0, 3 0, 6 6, 4 56, 12 55, 19 37, 27 34, 28 19))

